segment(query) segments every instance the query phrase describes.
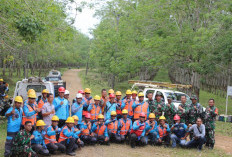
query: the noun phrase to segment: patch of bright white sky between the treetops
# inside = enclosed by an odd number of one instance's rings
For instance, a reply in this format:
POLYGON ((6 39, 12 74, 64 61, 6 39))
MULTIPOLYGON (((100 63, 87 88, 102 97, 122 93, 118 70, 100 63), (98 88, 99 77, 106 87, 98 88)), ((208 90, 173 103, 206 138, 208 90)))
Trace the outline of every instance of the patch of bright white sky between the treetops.
MULTIPOLYGON (((78 0, 76 0, 78 1, 78 0)), ((93 0, 82 0, 85 2, 93 2, 93 0)), ((75 7, 75 5, 74 5, 75 7)), ((100 6, 98 6, 100 7, 100 6)), ((82 33, 84 33, 85 35, 89 36, 90 38, 92 38, 93 36, 90 34, 90 30, 91 28, 95 28, 95 25, 100 23, 100 19, 93 17, 94 13, 95 13, 95 9, 92 8, 90 9, 89 7, 84 7, 84 9, 82 9, 82 12, 78 12, 77 17, 76 17, 76 21, 74 23, 74 26, 80 30, 82 33)), ((75 13, 74 13, 75 14, 75 13)))

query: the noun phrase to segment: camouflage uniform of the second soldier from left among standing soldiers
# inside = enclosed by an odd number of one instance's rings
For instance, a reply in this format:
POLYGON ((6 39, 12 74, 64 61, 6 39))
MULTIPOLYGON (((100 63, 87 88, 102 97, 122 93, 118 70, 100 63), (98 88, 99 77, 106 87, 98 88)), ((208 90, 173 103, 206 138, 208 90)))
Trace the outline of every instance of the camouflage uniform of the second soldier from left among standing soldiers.
POLYGON ((176 114, 176 108, 175 105, 173 103, 170 104, 170 106, 168 106, 168 104, 165 105, 165 113, 164 116, 166 117, 166 121, 168 123, 169 126, 173 125, 173 117, 176 114))

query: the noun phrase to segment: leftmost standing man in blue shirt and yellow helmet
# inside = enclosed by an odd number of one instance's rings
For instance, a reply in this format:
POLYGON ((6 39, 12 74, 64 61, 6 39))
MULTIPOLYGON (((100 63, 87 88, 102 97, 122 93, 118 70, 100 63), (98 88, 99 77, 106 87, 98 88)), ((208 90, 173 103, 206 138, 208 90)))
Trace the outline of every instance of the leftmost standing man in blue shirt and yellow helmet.
POLYGON ((21 96, 16 96, 14 99, 14 106, 10 107, 6 111, 7 118, 7 137, 5 143, 5 157, 9 157, 11 155, 11 147, 13 138, 17 135, 20 130, 20 126, 22 123, 22 114, 23 111, 21 109, 21 105, 23 103, 23 99, 21 96))

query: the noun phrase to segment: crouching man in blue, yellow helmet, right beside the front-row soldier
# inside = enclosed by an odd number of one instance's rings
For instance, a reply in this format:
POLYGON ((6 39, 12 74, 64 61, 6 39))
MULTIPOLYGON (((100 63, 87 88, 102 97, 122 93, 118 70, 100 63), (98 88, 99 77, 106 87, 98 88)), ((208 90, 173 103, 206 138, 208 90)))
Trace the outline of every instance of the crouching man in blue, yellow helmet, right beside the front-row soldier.
POLYGON ((44 135, 46 132, 44 131, 44 126, 46 124, 43 120, 38 120, 36 122, 36 130, 33 131, 34 138, 31 140, 32 149, 37 153, 44 156, 49 156, 49 151, 44 142, 44 135))

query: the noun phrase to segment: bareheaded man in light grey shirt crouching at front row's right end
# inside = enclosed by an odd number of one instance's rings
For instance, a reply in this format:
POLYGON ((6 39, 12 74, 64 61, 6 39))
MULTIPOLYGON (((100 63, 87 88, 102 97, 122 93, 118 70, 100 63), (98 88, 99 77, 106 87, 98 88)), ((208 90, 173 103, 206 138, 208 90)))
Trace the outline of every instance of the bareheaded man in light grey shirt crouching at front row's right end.
MULTIPOLYGON (((193 139, 186 144, 187 148, 198 148, 198 151, 202 150, 202 146, 205 143, 205 125, 202 124, 202 119, 197 118, 196 124, 189 124, 189 132, 193 131, 193 139)), ((189 133, 188 133, 189 135, 189 133)))

